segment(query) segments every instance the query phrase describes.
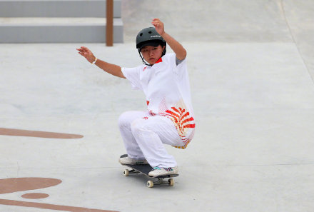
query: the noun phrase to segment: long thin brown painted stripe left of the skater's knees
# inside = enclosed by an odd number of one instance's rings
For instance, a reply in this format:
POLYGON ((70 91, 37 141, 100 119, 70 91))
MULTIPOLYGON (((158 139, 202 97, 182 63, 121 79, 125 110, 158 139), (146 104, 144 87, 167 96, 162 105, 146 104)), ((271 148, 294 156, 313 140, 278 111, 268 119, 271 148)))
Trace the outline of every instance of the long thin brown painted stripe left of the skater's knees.
POLYGON ((82 135, 68 134, 68 133, 53 133, 44 131, 26 131, 15 128, 0 128, 0 135, 2 136, 26 136, 36 138, 83 138, 82 135))

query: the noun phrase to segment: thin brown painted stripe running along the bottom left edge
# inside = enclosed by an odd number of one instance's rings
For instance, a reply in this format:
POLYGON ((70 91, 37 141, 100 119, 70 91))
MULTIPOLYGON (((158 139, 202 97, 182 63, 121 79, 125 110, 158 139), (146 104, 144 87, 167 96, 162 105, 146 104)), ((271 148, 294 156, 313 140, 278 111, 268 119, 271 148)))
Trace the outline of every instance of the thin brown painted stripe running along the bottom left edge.
POLYGON ((118 212, 118 211, 106 211, 100 209, 91 209, 91 208, 81 208, 81 207, 72 207, 72 206, 59 206, 46 203, 32 203, 24 201, 14 201, 9 199, 0 199, 0 205, 6 206, 22 206, 30 208, 41 208, 41 209, 50 209, 56 211, 71 211, 71 212, 118 212))

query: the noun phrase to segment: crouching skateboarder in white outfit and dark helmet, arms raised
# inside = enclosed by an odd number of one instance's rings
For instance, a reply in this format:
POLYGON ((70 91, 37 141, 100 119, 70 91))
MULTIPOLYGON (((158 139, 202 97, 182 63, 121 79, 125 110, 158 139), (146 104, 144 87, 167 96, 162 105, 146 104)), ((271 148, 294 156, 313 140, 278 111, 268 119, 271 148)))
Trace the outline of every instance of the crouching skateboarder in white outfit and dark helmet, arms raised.
POLYGON ((153 27, 136 36, 136 49, 143 65, 121 68, 97 59, 82 46, 78 54, 109 74, 128 79, 132 89, 146 96, 147 111, 127 111, 119 117, 128 157, 122 164, 146 164, 153 167, 149 176, 178 173, 175 158, 163 144, 186 148, 193 138, 195 122, 186 64, 186 49, 164 30, 163 22, 153 19, 153 27), (174 54, 166 54, 166 44, 174 54))

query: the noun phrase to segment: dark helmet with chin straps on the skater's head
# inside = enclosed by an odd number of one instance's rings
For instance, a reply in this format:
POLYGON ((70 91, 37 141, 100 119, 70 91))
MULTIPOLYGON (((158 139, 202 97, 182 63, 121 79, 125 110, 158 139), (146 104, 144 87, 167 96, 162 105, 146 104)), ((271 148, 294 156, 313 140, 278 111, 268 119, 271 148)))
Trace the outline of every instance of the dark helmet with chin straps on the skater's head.
MULTIPOLYGON (((158 46, 158 45, 166 46, 166 41, 160 34, 158 34, 155 27, 148 27, 138 32, 138 35, 136 36, 136 49, 138 49, 138 54, 140 54, 143 64, 150 66, 150 64, 146 64, 146 62, 143 59, 143 56, 141 55, 141 49, 143 48, 143 46, 158 46)), ((163 54, 161 54, 161 56, 164 56, 165 54, 166 47, 163 50, 163 54)))

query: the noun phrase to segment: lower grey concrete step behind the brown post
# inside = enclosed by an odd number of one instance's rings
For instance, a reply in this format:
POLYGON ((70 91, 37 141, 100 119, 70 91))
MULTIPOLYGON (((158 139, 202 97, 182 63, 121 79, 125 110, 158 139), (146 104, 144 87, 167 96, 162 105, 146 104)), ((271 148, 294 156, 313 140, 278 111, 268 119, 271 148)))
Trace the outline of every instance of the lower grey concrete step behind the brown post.
MULTIPOLYGON (((106 19, 0 19, 0 37, 0 43, 103 43, 106 19)), ((121 19, 113 21, 113 42, 123 42, 121 19)))

